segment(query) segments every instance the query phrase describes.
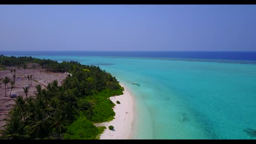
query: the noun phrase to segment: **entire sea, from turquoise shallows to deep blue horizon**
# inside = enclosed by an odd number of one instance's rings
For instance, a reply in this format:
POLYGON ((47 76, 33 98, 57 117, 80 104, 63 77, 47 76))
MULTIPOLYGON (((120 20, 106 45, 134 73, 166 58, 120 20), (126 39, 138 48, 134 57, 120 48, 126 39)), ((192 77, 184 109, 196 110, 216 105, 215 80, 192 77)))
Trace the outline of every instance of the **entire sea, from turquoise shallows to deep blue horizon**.
POLYGON ((135 97, 135 139, 256 139, 256 52, 0 54, 78 61, 112 73, 135 97))

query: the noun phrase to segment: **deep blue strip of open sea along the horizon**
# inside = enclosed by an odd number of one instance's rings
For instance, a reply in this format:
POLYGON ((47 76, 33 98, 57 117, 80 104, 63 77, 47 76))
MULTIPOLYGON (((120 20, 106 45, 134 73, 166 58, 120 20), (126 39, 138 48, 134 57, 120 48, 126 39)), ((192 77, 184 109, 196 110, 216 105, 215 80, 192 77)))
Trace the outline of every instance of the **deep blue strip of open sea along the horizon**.
POLYGON ((97 52, 97 51, 14 51, 3 55, 28 54, 33 56, 119 56, 119 57, 150 57, 150 58, 180 58, 180 59, 222 59, 256 61, 256 52, 97 52))

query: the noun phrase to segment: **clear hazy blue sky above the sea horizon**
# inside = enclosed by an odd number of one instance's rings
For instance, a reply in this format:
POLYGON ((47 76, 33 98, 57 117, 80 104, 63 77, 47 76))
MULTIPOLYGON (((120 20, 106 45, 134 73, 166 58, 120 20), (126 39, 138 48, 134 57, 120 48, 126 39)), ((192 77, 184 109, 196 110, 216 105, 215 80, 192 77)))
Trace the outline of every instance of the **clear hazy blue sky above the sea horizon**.
POLYGON ((0 5, 0 51, 256 51, 256 5, 0 5))

